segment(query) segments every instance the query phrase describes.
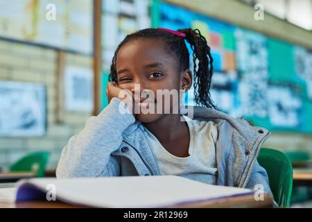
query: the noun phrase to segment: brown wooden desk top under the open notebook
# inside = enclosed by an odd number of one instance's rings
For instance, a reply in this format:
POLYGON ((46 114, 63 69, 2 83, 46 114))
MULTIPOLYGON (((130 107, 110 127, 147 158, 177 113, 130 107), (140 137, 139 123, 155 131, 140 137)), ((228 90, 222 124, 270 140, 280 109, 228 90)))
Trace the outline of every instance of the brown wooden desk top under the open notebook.
MULTIPOLYGON (((0 207, 5 208, 85 208, 84 206, 69 205, 58 201, 32 201, 22 203, 0 203, 0 207)), ((177 208, 259 208, 259 207, 272 207, 272 198, 269 195, 264 196, 264 200, 254 200, 254 194, 245 196, 236 196, 230 198, 223 198, 221 200, 210 200, 202 203, 194 203, 187 205, 175 205, 172 207, 177 208)))

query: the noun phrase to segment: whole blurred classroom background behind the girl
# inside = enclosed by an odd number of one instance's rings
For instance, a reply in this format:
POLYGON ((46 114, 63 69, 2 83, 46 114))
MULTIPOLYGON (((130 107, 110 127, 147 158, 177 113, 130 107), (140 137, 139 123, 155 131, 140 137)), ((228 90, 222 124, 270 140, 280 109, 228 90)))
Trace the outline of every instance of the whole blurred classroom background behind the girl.
POLYGON ((0 0, 1 171, 44 156, 40 176, 53 176, 69 138, 107 105, 116 46, 159 26, 198 28, 218 108, 268 128, 263 146, 311 166, 311 0, 0 0))

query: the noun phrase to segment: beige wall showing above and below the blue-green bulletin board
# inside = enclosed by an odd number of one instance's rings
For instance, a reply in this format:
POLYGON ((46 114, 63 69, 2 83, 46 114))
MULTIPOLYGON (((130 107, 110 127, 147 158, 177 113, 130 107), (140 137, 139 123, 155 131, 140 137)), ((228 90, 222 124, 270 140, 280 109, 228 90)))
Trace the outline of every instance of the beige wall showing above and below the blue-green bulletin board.
MULTIPOLYGON (((237 26, 275 37, 279 40, 299 44, 312 49, 312 33, 294 26, 272 15, 265 14, 264 21, 254 20, 255 10, 235 0, 166 0, 168 3, 183 6, 196 12, 229 22, 237 26), (205 7, 202 7, 205 6, 205 7)), ((264 8, 264 10, 266 10, 264 8)), ((263 146, 277 148, 281 151, 302 150, 312 156, 312 135, 300 133, 272 133, 263 146)))

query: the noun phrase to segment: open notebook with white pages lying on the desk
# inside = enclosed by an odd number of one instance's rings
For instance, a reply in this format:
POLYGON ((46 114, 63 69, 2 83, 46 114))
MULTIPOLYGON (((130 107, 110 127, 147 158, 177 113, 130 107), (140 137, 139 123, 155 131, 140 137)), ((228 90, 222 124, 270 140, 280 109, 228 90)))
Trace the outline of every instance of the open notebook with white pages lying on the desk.
POLYGON ((132 208, 199 203, 230 196, 248 195, 252 190, 206 185, 179 176, 129 176, 33 178, 21 180, 16 190, 12 189, 10 192, 14 195, 11 199, 15 201, 46 200, 46 196, 51 198, 55 194, 57 200, 73 205, 132 208))

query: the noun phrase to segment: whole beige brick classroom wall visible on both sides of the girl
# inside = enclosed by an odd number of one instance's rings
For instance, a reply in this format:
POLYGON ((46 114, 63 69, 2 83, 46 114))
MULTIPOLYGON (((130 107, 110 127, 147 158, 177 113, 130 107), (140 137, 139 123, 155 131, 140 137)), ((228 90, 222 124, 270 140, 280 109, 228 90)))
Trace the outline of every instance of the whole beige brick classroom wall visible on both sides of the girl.
MULTIPOLYGON (((225 22, 254 29, 271 37, 300 44, 312 49, 312 33, 288 24, 270 15, 266 22, 255 22, 254 10, 232 0, 167 0, 225 22), (209 7, 202 7, 203 3, 209 7), (244 15, 244 16, 243 16, 244 15), (292 35, 288 35, 292 33, 292 35)), ((78 133, 91 112, 64 112, 64 122, 57 123, 57 51, 41 46, 0 40, 0 80, 44 83, 47 92, 47 132, 44 137, 0 137, 0 166, 5 170, 12 162, 28 152, 46 150, 51 152, 49 168, 55 168, 62 148, 71 135, 78 133)), ((65 65, 92 68, 92 57, 66 53, 65 65)), ((299 149, 312 155, 312 135, 296 133, 272 133, 263 146, 281 151, 299 149)))

